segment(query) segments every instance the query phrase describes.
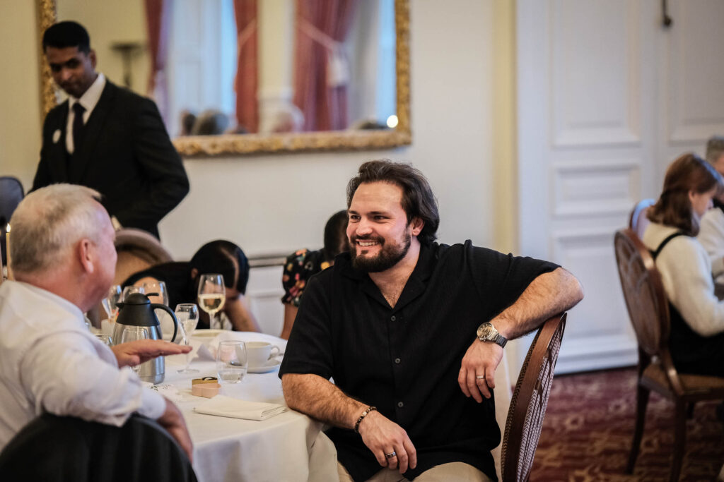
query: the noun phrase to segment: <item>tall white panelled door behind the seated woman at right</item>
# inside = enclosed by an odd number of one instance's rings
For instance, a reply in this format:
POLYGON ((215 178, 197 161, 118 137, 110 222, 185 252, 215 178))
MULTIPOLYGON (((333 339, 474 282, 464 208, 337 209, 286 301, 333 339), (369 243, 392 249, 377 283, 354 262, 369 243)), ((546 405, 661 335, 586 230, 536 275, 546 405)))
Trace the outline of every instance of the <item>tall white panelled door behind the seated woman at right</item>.
POLYGON ((666 28, 659 0, 518 0, 519 252, 586 293, 561 372, 636 363, 613 233, 671 160, 724 134, 724 2, 668 4, 666 28))

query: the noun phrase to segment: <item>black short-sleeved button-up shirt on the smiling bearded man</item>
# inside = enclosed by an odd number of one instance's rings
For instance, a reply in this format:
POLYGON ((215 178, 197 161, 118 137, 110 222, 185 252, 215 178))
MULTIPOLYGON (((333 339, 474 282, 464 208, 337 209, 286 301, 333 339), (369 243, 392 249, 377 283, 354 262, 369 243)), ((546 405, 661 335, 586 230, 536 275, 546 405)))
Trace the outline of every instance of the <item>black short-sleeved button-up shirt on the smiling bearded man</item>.
MULTIPOLYGON (((417 450, 412 480, 447 462, 466 462, 496 480, 490 450, 500 444, 494 399, 476 403, 458 385, 478 326, 556 264, 466 244, 422 246, 395 307, 348 253, 311 278, 279 376, 316 374, 375 405, 407 431, 417 450)), ((327 432, 355 481, 381 469, 351 430, 327 432)))

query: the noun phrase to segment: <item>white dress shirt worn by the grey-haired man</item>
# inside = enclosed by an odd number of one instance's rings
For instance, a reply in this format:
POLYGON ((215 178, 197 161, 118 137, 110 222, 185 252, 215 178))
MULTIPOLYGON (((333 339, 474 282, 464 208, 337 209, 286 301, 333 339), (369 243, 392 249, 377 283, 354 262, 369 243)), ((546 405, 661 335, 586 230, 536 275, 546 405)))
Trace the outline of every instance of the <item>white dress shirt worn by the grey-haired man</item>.
POLYGON ((0 449, 43 412, 121 426, 159 418, 164 397, 119 369, 70 301, 28 283, 0 285, 0 449))

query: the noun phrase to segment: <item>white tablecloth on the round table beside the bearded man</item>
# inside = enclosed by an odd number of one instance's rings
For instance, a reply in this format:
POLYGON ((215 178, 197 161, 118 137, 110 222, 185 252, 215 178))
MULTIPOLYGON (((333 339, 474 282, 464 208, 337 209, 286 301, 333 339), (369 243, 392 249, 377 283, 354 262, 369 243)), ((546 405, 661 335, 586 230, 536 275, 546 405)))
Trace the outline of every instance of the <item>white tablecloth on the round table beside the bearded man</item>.
MULTIPOLYGON (((267 341, 282 352, 286 341, 272 335, 227 332, 224 339, 267 341)), ((193 356, 209 337, 194 337, 193 356)), ((166 359, 164 384, 179 391, 175 403, 182 410, 194 444, 193 467, 201 482, 222 481, 337 481, 334 444, 321 433, 321 424, 292 410, 265 421, 240 420, 195 413, 206 401, 191 395, 191 379, 216 376, 216 363, 193 358, 195 374, 179 374, 185 356, 166 359)), ((265 374, 246 374, 240 384, 222 385, 222 395, 253 402, 284 403, 278 368, 265 374)))

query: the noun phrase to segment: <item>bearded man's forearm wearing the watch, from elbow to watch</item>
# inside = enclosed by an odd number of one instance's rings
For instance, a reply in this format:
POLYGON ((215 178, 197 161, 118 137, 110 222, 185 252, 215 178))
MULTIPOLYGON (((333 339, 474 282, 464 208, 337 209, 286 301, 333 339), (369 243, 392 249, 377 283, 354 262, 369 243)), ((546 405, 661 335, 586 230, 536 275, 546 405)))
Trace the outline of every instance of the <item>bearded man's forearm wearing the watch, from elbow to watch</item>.
POLYGON ((491 320, 501 335, 517 338, 554 316, 578 304, 584 293, 581 283, 563 268, 544 273, 507 309, 491 320))

